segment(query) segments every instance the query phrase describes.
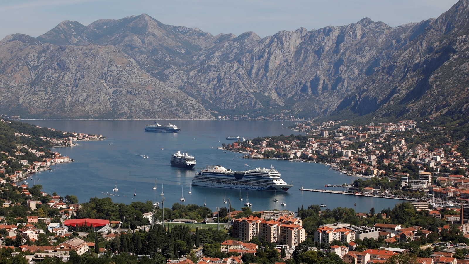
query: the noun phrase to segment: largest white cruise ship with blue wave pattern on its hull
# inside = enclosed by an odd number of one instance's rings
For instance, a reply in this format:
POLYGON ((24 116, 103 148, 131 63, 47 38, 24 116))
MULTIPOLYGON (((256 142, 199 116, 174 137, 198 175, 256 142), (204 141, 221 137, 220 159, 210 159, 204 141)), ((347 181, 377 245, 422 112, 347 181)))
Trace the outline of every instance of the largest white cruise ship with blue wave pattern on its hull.
POLYGON ((196 173, 192 184, 254 191, 288 191, 293 186, 280 179, 280 172, 273 167, 232 171, 222 166, 207 166, 205 170, 196 173))

